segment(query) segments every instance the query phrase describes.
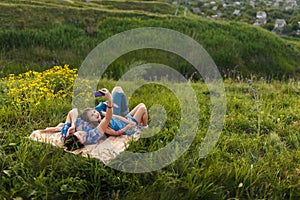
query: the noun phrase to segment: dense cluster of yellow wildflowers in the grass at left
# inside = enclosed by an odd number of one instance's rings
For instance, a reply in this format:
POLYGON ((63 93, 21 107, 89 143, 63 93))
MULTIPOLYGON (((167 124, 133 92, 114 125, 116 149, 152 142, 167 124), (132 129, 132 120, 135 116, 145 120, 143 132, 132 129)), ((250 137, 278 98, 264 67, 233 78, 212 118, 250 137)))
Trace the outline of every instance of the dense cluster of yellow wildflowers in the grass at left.
POLYGON ((24 108, 38 106, 41 101, 52 101, 54 98, 71 98, 76 76, 76 69, 64 65, 44 72, 10 74, 1 82, 5 83, 7 103, 24 108))

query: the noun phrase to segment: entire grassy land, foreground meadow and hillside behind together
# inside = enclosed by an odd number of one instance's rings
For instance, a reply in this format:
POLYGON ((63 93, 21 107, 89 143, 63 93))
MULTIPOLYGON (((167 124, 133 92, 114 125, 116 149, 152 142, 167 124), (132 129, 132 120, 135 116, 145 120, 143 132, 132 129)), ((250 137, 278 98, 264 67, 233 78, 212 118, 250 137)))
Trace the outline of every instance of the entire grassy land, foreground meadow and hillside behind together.
MULTIPOLYGON (((183 17, 183 6, 174 16, 177 8, 163 0, 0 2, 0 200, 300 199, 299 39, 243 22, 192 13, 183 17), (198 123, 185 122, 197 129, 178 159, 159 170, 128 173, 28 138, 65 120, 79 66, 97 45, 143 27, 189 36, 223 78, 225 94, 210 91, 185 58, 155 48, 122 54, 99 77, 97 88, 111 90, 133 67, 160 63, 188 79, 198 123), (213 127, 211 100, 219 97, 226 98, 224 127, 203 156, 202 144, 213 127)), ((152 36, 154 41, 160 37, 152 36)), ((176 90, 182 88, 168 74, 159 75, 176 90)), ((131 142, 126 151, 155 152, 177 139, 182 102, 164 85, 140 81, 142 86, 128 96, 129 107, 144 102, 150 111, 163 108, 166 118, 162 128, 144 132, 152 137, 131 142)))

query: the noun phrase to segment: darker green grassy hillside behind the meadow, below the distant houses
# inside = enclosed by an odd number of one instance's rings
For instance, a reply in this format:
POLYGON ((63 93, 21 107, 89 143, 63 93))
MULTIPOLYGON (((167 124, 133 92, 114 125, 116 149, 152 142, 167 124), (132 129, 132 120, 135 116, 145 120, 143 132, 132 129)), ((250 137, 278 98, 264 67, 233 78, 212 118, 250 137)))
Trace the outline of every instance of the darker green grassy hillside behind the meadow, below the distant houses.
MULTIPOLYGON (((108 37, 146 26, 191 36, 208 51, 223 74, 237 71, 244 76, 299 76, 299 42, 287 43, 258 27, 192 15, 174 17, 176 7, 160 1, 133 1, 130 5, 126 1, 72 2, 1 1, 0 76, 43 70, 55 64, 78 67, 108 37)), ((155 50, 124 55, 110 70, 121 67, 124 71, 136 61, 168 64, 186 76, 193 73, 184 60, 155 50)))

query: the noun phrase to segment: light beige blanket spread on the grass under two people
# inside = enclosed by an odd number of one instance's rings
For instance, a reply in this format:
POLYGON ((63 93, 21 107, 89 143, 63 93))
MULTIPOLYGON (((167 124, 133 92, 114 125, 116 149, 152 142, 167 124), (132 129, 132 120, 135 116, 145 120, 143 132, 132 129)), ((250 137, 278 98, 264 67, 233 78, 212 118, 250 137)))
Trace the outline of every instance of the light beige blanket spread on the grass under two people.
MULTIPOLYGON (((109 163, 112 159, 116 158, 120 153, 128 148, 132 140, 139 139, 139 132, 133 135, 121 135, 118 137, 110 136, 104 140, 98 141, 97 144, 85 145, 81 149, 75 151, 67 151, 73 154, 81 154, 84 157, 93 157, 101 160, 104 164, 109 163)), ((30 139, 38 142, 49 143, 53 146, 64 148, 61 141, 61 132, 41 132, 40 130, 33 131, 30 139)))

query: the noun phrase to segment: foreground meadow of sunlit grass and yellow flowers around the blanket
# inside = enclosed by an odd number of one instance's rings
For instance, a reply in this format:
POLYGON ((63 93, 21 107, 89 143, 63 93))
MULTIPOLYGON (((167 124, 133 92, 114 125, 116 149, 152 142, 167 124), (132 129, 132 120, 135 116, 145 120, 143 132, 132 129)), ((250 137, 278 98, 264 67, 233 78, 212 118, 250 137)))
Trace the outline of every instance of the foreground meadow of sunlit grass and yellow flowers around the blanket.
MULTIPOLYGON (((191 81, 200 110, 191 146, 170 165, 136 174, 28 139, 33 130, 64 121, 76 74, 65 65, 0 80, 0 199, 299 199, 298 80, 224 79, 224 128, 206 157, 199 151, 212 94, 203 82, 191 81)), ((104 78, 98 87, 111 90, 115 84, 104 78)), ((164 87, 146 84, 130 97, 129 107, 139 102, 164 106, 167 120, 127 151, 163 148, 179 128, 178 100, 164 87)))

